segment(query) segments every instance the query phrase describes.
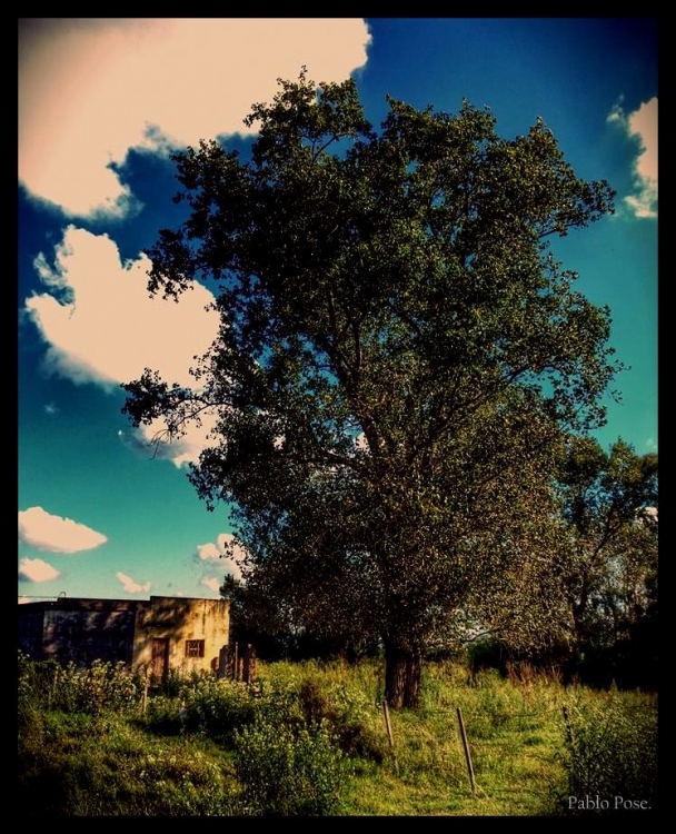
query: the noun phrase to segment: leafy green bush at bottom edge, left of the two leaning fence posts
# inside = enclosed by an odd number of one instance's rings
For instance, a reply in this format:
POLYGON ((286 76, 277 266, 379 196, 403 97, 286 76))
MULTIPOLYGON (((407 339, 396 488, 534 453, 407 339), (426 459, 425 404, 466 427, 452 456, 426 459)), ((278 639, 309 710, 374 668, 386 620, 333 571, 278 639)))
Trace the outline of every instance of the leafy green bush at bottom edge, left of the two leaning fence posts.
POLYGON ((235 733, 242 813, 324 816, 337 812, 346 759, 326 722, 305 727, 259 717, 235 733))

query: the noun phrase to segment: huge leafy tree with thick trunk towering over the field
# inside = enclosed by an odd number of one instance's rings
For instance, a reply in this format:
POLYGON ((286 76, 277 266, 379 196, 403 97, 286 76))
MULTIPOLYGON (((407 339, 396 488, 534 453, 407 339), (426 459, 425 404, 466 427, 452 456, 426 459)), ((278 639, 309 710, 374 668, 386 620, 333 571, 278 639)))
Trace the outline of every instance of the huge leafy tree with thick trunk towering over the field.
POLYGON ((547 241, 614 195, 540 119, 506 140, 468 102, 388 105, 376 131, 352 81, 302 70, 252 107, 250 159, 175 156, 190 215, 148 251, 149 289, 210 282, 222 326, 191 389, 147 369, 123 410, 170 439, 217 415, 189 477, 233 507, 248 587, 296 625, 377 635, 398 707, 431 642, 558 622, 551 450, 603 423, 615 368, 608 310, 547 241))

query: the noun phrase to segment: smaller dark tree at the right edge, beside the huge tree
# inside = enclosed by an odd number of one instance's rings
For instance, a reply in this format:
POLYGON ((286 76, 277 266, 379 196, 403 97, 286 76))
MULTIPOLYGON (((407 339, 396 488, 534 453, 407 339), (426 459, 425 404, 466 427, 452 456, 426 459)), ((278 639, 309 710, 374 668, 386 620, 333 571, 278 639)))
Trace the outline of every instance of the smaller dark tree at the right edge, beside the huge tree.
POLYGON ((563 450, 563 587, 575 648, 597 667, 619 659, 636 665, 636 656, 655 651, 657 474, 656 454, 637 455, 622 439, 606 453, 590 437, 571 437, 563 450), (620 657, 627 649, 634 661, 620 657))

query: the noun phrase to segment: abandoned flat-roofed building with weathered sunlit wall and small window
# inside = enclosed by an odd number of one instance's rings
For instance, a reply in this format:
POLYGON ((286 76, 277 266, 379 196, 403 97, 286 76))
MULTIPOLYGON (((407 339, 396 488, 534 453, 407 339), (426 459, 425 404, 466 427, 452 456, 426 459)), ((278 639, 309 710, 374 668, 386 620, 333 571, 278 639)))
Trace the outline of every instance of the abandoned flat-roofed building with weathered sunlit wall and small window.
POLYGON ((125 663, 157 682, 169 669, 213 672, 229 663, 230 603, 151 596, 148 600, 59 597, 19 605, 19 648, 34 661, 83 667, 125 663))

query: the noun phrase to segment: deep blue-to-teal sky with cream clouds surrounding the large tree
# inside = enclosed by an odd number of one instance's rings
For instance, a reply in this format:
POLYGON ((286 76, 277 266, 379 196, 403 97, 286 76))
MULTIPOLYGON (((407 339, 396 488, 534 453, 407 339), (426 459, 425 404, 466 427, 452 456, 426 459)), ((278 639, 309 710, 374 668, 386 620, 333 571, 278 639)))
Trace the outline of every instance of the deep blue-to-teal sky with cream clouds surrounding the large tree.
POLYGON ((20 599, 218 597, 227 508, 186 477, 203 438, 152 456, 120 409, 150 366, 188 379, 215 320, 207 290, 150 300, 142 250, 180 210, 172 148, 251 141, 250 106, 300 67, 457 112, 487 105, 507 138, 541 117, 617 210, 554 245, 613 317, 627 369, 604 447, 657 450, 657 22, 654 19, 300 18, 19 21, 20 599))

